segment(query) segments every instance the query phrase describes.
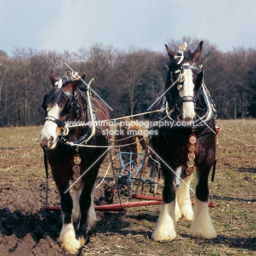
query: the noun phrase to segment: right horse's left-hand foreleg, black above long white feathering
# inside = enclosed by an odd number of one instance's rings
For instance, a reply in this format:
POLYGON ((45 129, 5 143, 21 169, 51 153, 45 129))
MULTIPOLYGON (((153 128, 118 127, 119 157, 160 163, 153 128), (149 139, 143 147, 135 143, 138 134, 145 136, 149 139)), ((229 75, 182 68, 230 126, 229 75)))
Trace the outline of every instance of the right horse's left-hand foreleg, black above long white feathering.
POLYGON ((176 188, 173 179, 165 174, 165 187, 162 197, 162 208, 152 238, 156 241, 172 240, 176 234, 176 188), (170 181, 170 182, 169 182, 170 181))

